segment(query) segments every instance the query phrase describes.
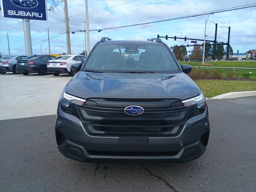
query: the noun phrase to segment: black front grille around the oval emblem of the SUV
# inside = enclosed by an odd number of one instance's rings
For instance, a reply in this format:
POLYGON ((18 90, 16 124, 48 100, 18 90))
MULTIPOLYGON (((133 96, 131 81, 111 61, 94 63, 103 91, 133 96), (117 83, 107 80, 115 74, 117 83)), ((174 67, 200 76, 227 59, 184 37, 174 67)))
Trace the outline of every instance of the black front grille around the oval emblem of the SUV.
POLYGON ((89 99, 78 108, 79 118, 90 135, 158 137, 177 136, 190 116, 179 100, 89 99), (131 116, 124 108, 138 105, 144 113, 131 116))

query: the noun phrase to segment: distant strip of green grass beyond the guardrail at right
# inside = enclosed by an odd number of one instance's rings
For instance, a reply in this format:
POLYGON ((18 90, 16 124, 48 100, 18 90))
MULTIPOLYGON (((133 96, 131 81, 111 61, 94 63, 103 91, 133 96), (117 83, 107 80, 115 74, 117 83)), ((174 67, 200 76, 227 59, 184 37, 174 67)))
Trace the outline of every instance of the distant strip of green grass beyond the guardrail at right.
MULTIPOLYGON (((201 66, 202 62, 181 61, 182 64, 191 66, 201 66)), ((205 63, 213 64, 212 67, 247 67, 256 68, 256 61, 206 61, 205 63)))

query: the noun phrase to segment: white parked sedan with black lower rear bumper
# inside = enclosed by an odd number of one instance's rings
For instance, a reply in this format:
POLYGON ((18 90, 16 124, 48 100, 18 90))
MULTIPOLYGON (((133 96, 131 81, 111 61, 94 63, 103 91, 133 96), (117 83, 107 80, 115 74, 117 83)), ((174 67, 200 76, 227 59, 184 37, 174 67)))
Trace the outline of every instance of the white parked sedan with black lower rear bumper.
POLYGON ((75 63, 81 63, 86 59, 84 55, 61 55, 49 60, 47 63, 47 72, 52 73, 54 76, 59 74, 68 73, 70 76, 74 76, 74 72, 71 69, 71 65, 75 63))

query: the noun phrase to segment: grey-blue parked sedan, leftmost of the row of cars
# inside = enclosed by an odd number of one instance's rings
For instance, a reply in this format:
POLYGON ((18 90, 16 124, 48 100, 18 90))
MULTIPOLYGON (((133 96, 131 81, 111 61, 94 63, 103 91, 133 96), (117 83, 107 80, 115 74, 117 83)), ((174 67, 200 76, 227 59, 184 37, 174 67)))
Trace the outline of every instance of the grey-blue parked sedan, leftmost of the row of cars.
POLYGON ((15 55, 15 56, 7 56, 5 58, 0 58, 0 74, 6 74, 6 72, 16 72, 16 63, 17 60, 25 58, 25 55, 15 55))

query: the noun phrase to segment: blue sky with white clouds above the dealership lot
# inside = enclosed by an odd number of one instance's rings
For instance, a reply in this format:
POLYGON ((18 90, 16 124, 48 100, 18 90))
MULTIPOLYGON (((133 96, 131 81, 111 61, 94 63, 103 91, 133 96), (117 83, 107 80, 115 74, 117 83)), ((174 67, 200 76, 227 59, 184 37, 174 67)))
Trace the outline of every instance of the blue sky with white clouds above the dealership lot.
MULTIPOLYGON (((176 18, 190 14, 231 8, 240 5, 253 4, 256 0, 88 0, 90 30, 124 26, 176 18), (114 6, 114 7, 113 7, 114 6), (103 9, 103 10, 102 10, 103 9)), ((48 8, 50 0, 48 0, 48 8)), ((85 1, 68 0, 68 15, 70 31, 84 30, 85 1), (79 16, 76 16, 79 15, 79 16)), ((102 37, 113 40, 147 40, 160 36, 177 36, 187 38, 204 38, 204 24, 208 15, 132 26, 119 29, 90 32, 90 47, 102 37)), ((208 40, 214 40, 215 25, 218 23, 217 40, 227 42, 230 26, 230 45, 234 52, 244 53, 256 49, 256 7, 211 14, 207 23, 206 35, 208 40)), ((47 39, 47 28, 50 38, 65 32, 64 3, 48 11, 48 20, 30 20, 32 44, 47 39)), ((0 16, 0 53, 8 54, 6 33, 9 34, 10 51, 12 55, 25 54, 22 19, 4 18, 0 16)), ((190 41, 164 38, 168 46, 193 44, 190 41)), ((72 54, 81 53, 84 48, 84 32, 70 33, 72 54)), ((202 42, 198 42, 202 43, 202 42)), ((67 52, 66 34, 50 39, 52 54, 67 52)), ((32 46, 33 54, 48 54, 48 41, 32 46), (41 49, 40 49, 41 46, 41 49)), ((192 47, 187 48, 192 50, 192 47)))

